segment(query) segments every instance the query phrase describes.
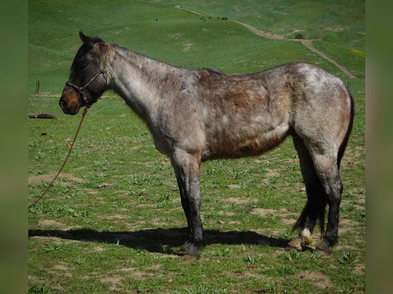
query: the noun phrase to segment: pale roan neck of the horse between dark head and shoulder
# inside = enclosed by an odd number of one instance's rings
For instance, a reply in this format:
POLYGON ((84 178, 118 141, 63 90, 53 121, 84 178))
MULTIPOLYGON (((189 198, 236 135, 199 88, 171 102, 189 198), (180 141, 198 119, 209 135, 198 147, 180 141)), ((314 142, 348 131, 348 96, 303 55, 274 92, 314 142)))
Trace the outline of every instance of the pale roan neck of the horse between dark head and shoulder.
POLYGON ((124 48, 114 47, 109 62, 110 88, 119 94, 141 118, 149 121, 158 111, 162 82, 175 67, 124 48))

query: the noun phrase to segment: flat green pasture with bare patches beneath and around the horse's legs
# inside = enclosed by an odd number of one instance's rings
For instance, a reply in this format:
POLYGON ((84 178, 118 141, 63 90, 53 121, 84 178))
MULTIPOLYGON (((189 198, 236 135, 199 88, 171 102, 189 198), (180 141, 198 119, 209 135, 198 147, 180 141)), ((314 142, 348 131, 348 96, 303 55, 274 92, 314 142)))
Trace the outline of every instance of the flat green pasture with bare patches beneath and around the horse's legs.
MULTIPOLYGON (((364 100, 354 96, 360 112, 364 100)), ((57 99, 29 97, 33 113, 44 104, 57 112, 57 99)), ((29 184, 29 203, 60 168, 77 120, 62 114, 29 120, 29 177, 36 179, 29 184)), ((343 159, 342 233, 330 257, 283 250, 305 203, 298 159, 287 140, 262 156, 202 165, 201 213, 209 245, 199 261, 181 262, 186 221, 170 163, 125 103, 104 96, 88 112, 64 175, 29 213, 31 292, 296 293, 301 287, 333 293, 349 285, 363 292, 362 120, 360 112, 343 159), (300 278, 309 272, 313 278, 300 278)))

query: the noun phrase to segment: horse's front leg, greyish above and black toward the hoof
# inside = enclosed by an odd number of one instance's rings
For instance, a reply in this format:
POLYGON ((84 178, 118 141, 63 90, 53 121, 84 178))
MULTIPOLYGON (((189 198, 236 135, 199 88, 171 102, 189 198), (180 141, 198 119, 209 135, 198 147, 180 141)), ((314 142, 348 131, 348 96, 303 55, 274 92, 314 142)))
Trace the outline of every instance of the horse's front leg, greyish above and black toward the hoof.
POLYGON ((200 257, 206 246, 205 233, 200 215, 201 192, 199 169, 201 156, 176 150, 171 158, 173 170, 178 180, 182 206, 187 218, 188 241, 181 247, 186 255, 200 257))

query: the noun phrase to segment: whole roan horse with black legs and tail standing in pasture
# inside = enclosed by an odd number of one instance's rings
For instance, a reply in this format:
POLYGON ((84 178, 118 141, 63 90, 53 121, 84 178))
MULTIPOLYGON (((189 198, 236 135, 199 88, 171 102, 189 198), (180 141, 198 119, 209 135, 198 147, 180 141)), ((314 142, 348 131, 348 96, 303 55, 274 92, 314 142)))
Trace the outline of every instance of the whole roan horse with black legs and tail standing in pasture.
POLYGON ((178 68, 80 32, 59 104, 75 115, 108 89, 146 121, 156 149, 169 156, 188 223, 186 255, 200 256, 206 240, 200 206, 200 165, 214 158, 253 156, 291 135, 299 154, 307 203, 289 242, 302 250, 320 221, 315 252, 338 242, 343 185, 340 161, 352 128, 353 99, 343 82, 316 66, 297 62, 231 75, 178 68), (328 205, 326 231, 324 219, 328 205))

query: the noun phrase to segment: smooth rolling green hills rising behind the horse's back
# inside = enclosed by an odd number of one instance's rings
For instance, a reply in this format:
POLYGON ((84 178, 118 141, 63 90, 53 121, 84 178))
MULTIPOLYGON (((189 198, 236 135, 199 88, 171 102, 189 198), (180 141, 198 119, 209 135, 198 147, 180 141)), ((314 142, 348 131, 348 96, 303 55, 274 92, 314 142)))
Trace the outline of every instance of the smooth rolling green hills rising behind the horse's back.
POLYGON ((81 41, 78 31, 96 35, 180 67, 213 67, 224 72, 259 71, 290 61, 308 61, 345 79, 335 65, 298 41, 318 39, 315 47, 339 58, 364 77, 364 2, 306 1, 29 1, 29 92, 59 93, 81 41), (189 11, 198 11, 211 18, 189 11), (223 20, 222 17, 227 17, 223 20), (285 40, 258 36, 238 20, 285 40))

